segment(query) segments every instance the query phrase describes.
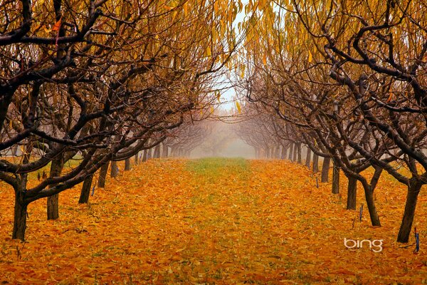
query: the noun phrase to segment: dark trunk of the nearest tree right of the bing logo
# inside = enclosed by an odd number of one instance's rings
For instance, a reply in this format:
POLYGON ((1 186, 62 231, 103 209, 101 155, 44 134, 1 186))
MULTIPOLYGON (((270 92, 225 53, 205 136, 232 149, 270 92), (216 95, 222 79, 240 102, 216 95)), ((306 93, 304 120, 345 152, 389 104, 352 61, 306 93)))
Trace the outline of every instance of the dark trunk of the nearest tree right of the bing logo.
POLYGON ((406 204, 404 217, 402 217, 401 227, 397 235, 397 242, 408 242, 409 234, 411 234, 413 217, 415 215, 416 202, 418 194, 421 190, 421 182, 411 179, 408 185, 408 193, 406 194, 406 204))

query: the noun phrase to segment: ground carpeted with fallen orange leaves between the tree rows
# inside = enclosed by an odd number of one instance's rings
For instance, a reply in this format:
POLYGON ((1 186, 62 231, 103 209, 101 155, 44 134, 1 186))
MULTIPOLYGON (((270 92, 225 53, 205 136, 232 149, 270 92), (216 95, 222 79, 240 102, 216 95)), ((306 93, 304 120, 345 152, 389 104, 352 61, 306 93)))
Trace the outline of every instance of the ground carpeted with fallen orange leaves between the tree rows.
POLYGON ((426 195, 413 254, 413 237, 394 242, 405 189, 380 183, 383 227, 373 228, 302 165, 151 160, 88 205, 78 187, 61 193, 55 222, 45 200, 31 204, 25 243, 10 239, 13 194, 0 184, 0 284, 426 284, 426 195), (384 239, 383 251, 347 249, 344 238, 384 239))

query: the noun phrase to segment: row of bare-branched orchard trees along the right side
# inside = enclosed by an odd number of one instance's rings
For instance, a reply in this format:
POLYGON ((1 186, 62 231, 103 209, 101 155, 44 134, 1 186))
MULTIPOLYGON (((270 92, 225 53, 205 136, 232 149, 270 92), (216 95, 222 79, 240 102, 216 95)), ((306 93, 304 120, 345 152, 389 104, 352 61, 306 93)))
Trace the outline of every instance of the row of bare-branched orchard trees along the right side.
POLYGON ((265 153, 303 144, 332 160, 349 179, 349 209, 361 182, 372 225, 381 173, 406 185, 398 242, 427 184, 426 12, 425 1, 267 1, 248 20, 236 76, 247 108, 263 114, 251 122, 273 134, 248 143, 265 153))

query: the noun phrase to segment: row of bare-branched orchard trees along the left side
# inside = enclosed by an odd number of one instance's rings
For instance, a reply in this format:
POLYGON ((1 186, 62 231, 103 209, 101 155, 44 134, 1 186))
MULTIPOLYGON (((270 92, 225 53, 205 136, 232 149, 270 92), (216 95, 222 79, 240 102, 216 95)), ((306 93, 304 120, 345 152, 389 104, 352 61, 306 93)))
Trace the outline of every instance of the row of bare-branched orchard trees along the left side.
POLYGON ((48 197, 48 219, 57 219, 59 193, 84 182, 88 197, 109 162, 115 171, 161 142, 179 152, 177 136, 216 100, 242 9, 222 0, 2 1, 0 180, 14 189, 12 237, 25 237, 28 204, 48 197), (48 177, 28 184, 43 167, 48 177))

